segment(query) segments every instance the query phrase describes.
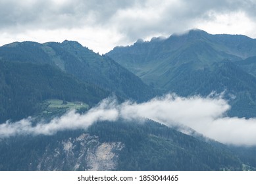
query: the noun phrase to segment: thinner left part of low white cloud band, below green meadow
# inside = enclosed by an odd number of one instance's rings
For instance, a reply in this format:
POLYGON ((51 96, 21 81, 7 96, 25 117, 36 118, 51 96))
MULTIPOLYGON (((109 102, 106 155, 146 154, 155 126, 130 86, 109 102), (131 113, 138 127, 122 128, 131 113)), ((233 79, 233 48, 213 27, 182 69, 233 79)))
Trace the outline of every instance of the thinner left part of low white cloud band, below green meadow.
POLYGON ((32 119, 24 119, 18 122, 6 122, 0 124, 0 137, 10 137, 14 135, 53 135, 57 131, 67 129, 86 129, 94 122, 116 121, 118 112, 115 108, 105 108, 105 101, 98 107, 92 108, 87 114, 80 115, 74 110, 64 114, 60 118, 54 118, 49 123, 40 122, 32 126, 32 119))

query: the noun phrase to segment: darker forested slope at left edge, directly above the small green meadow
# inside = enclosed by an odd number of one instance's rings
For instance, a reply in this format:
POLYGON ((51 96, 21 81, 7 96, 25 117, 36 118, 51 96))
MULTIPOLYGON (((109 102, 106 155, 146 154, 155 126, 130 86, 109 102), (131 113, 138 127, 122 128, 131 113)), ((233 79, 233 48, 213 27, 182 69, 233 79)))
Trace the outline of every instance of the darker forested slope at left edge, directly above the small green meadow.
POLYGON ((37 115, 47 99, 82 101, 92 106, 109 95, 49 64, 0 60, 0 68, 0 123, 37 115))

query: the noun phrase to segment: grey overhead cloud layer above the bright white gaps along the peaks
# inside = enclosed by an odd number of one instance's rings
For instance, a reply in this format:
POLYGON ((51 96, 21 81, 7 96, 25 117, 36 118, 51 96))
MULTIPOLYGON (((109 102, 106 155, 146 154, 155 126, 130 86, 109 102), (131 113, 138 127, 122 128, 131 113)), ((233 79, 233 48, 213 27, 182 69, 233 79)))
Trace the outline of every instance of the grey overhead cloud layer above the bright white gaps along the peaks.
POLYGON ((193 28, 197 21, 215 20, 217 14, 244 12, 255 21, 254 0, 2 0, 0 30, 58 30, 91 27, 115 30, 126 41, 154 34, 170 35, 193 28))

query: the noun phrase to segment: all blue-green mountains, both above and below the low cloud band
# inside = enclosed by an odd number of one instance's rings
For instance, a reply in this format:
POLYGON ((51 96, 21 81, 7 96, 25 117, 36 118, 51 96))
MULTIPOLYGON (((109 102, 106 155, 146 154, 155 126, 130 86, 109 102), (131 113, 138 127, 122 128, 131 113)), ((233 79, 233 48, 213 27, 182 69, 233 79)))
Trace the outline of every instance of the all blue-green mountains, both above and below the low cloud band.
MULTIPOLYGON (((253 118, 255 62, 256 39, 203 30, 138 39, 105 55, 76 41, 10 43, 0 47, 0 127, 28 116, 36 127, 74 109, 86 114, 109 96, 143 104, 166 93, 222 94, 232 107, 228 116, 253 118)), ((187 135, 145 117, 143 123, 120 118, 53 135, 1 136, 0 129, 0 170, 256 168, 255 147, 224 145, 193 129, 187 135)))

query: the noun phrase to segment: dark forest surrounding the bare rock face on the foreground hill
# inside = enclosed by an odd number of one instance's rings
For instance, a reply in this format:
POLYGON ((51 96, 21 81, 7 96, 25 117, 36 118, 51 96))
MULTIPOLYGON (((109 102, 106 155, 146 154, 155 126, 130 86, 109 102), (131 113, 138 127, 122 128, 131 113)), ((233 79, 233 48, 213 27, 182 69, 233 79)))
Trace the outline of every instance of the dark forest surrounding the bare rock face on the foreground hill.
POLYGON ((83 132, 97 135, 101 143, 124 143, 116 170, 242 170, 242 161, 228 147, 205 143, 149 120, 99 122, 86 131, 3 139, 0 170, 36 170, 45 149, 54 150, 63 140, 83 132))

